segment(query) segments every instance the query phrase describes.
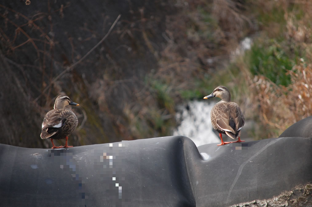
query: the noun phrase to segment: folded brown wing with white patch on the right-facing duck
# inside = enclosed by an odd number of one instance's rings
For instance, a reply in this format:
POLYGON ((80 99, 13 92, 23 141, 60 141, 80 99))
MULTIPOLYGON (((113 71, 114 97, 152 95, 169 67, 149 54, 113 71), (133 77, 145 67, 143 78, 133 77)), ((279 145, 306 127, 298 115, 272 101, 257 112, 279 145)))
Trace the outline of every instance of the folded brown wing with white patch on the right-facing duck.
POLYGON ((43 119, 41 128, 41 139, 46 139, 56 134, 65 124, 68 110, 56 109, 49 111, 43 119))

